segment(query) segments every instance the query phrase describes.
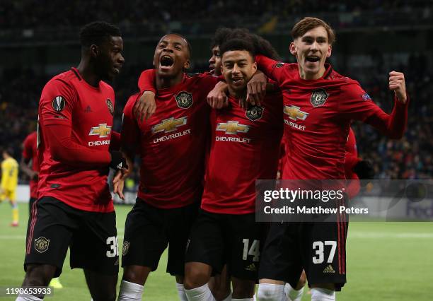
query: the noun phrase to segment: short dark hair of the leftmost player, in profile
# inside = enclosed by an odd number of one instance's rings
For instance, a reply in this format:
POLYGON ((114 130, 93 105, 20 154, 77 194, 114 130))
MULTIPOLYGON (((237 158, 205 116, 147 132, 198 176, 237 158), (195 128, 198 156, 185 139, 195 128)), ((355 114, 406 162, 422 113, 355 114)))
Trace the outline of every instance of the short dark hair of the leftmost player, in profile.
POLYGON ((120 29, 104 21, 88 23, 81 28, 80 42, 82 47, 101 45, 108 37, 120 37, 120 29))

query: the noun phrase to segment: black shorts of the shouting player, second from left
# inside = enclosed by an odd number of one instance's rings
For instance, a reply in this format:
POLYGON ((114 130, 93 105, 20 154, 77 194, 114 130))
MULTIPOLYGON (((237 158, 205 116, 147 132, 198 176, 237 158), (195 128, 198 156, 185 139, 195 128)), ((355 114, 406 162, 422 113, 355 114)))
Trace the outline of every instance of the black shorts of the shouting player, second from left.
POLYGON ((155 271, 168 245, 167 273, 183 276, 185 248, 198 206, 161 209, 137 199, 125 222, 122 266, 147 266, 155 271))

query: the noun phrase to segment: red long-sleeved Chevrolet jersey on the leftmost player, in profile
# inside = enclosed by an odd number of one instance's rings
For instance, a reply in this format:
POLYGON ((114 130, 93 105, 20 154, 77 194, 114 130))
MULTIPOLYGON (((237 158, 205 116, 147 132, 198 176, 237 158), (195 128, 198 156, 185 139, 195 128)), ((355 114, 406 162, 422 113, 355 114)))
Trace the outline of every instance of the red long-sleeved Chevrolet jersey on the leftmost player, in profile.
POLYGON ((39 102, 38 198, 52 196, 83 211, 114 211, 107 182, 114 100, 110 85, 100 81, 93 87, 76 69, 45 85, 39 102))

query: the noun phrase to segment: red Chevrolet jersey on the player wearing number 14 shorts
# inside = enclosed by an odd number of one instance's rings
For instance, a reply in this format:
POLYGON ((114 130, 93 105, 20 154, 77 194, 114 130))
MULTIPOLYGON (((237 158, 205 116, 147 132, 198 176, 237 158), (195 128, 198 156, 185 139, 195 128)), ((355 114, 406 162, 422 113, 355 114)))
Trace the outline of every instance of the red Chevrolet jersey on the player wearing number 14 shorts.
POLYGON ((212 140, 202 208, 212 213, 255 212, 255 180, 275 179, 282 137, 282 95, 270 93, 247 111, 229 98, 213 110, 212 140))

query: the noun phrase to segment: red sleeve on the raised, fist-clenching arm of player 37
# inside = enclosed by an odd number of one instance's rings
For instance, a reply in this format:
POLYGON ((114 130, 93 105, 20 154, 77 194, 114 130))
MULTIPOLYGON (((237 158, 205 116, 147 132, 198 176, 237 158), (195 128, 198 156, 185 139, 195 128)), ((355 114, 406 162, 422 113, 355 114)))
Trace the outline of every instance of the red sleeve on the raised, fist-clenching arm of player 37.
POLYGON ((342 116, 356 119, 374 126, 389 138, 401 138, 408 122, 408 101, 405 105, 394 98, 394 108, 391 114, 386 114, 376 105, 358 83, 342 86, 342 99, 339 109, 342 116))

